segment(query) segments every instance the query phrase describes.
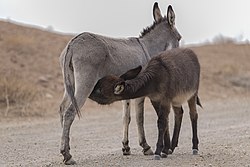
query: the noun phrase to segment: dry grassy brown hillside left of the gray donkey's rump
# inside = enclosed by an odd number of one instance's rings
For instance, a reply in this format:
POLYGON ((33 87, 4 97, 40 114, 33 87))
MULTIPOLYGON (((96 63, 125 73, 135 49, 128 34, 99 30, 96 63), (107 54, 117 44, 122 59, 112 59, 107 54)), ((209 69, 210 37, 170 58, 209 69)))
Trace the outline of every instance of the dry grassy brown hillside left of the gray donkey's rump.
POLYGON ((55 110, 62 90, 58 58, 70 38, 0 22, 1 116, 41 116, 55 110))

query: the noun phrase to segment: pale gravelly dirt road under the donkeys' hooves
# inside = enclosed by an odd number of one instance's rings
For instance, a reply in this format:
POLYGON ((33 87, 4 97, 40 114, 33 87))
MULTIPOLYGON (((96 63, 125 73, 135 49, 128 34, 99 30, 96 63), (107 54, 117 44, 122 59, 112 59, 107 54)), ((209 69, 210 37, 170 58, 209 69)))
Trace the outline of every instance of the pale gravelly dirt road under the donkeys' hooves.
MULTIPOLYGON (((75 166, 250 166, 249 99, 208 101, 199 109, 199 155, 191 154, 191 127, 187 106, 179 147, 160 161, 144 156, 138 145, 135 114, 132 112, 130 146, 132 155, 121 152, 122 112, 120 104, 98 105, 83 111, 71 131, 71 153, 75 166)), ((171 128, 173 115, 170 115, 171 128)), ((148 143, 155 148, 156 114, 147 101, 145 129, 148 143)), ((0 122, 0 166, 64 166, 59 153, 59 119, 29 118, 0 122)))

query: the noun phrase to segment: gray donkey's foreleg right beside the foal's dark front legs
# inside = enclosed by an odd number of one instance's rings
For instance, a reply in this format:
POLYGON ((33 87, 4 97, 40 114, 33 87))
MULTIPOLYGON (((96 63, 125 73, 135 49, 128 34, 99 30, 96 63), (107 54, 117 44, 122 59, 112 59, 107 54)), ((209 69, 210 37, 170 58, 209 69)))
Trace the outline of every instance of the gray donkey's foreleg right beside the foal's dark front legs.
POLYGON ((143 98, 135 99, 136 123, 138 127, 139 144, 143 148, 144 155, 153 155, 151 147, 148 145, 144 131, 144 100, 143 98))

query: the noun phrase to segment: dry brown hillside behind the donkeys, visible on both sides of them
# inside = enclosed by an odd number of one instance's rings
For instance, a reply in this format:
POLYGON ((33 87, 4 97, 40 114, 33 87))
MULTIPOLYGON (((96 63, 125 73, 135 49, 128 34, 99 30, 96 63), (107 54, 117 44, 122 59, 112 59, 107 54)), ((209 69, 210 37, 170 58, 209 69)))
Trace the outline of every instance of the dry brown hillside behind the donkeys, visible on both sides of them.
MULTIPOLYGON (((71 37, 0 21, 0 115, 56 113, 63 94, 58 58, 71 37)), ((203 101, 249 97, 249 45, 193 49, 202 68, 200 97, 203 101)))

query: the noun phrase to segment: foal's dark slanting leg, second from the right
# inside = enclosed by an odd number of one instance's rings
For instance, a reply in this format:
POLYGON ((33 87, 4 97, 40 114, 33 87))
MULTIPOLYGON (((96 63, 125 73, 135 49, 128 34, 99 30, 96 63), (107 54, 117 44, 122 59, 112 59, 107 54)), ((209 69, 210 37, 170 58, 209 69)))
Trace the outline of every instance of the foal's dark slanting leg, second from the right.
POLYGON ((174 152, 175 147, 178 146, 178 139, 181 129, 182 117, 183 117, 183 108, 181 107, 173 107, 174 110, 174 133, 172 137, 171 147, 168 151, 169 154, 174 152))

